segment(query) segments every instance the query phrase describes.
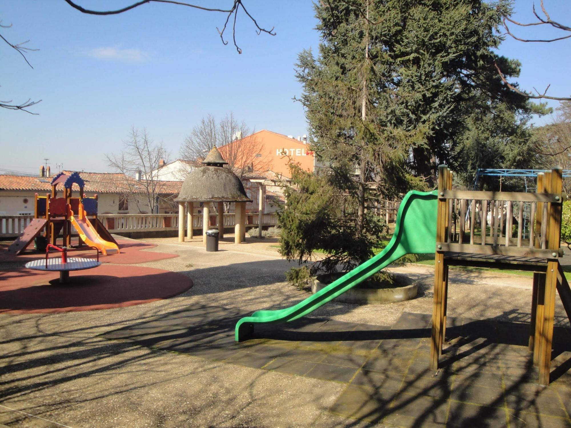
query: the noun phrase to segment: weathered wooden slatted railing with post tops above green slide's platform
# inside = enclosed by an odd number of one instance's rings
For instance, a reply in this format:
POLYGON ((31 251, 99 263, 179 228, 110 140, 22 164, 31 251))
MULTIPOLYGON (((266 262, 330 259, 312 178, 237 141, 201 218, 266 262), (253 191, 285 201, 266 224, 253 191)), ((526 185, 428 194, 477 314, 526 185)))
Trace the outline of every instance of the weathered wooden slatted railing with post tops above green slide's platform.
POLYGON ((480 192, 452 190, 452 173, 442 168, 439 219, 445 224, 439 224, 437 251, 559 257, 560 243, 553 241, 559 234, 550 239, 548 232, 560 228, 566 198, 559 171, 540 173, 537 193, 480 192))

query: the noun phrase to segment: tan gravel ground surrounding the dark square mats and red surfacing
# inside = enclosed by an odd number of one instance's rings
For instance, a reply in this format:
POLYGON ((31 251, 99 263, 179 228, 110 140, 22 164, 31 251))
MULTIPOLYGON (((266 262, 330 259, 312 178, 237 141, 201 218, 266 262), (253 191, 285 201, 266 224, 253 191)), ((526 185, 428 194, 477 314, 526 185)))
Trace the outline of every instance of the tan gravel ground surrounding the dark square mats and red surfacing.
MULTIPOLYGON (((284 281, 284 272, 295 264, 282 260, 270 247, 271 240, 221 243, 217 253, 206 253, 199 240, 182 244, 176 239, 146 241, 158 244, 146 251, 179 257, 143 266, 183 273, 192 278, 194 287, 168 300, 126 308, 0 314, 0 427, 365 425, 328 413, 343 389, 335 382, 99 337, 192 303, 254 312, 284 308, 308 296, 284 281)), ((394 270, 409 272, 420 281, 419 297, 385 305, 329 302, 311 316, 391 325, 403 312, 431 313, 433 269, 411 265, 394 270)), ((449 282, 450 316, 529 321, 529 277, 451 270, 449 282)), ((557 302, 556 324, 565 322, 557 302)))

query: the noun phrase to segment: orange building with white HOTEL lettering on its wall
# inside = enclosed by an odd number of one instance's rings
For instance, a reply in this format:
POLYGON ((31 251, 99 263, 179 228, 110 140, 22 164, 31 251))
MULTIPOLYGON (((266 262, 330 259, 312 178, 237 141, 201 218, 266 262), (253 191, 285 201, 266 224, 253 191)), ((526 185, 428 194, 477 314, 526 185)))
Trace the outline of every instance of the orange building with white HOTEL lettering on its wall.
MULTIPOLYGON (((307 137, 294 138, 277 132, 262 130, 219 147, 224 159, 232 158, 233 152, 242 152, 244 163, 252 164, 254 171, 272 171, 278 176, 289 177, 289 159, 306 171, 315 169, 315 156, 307 146, 307 137)), ((236 162, 234 164, 240 164, 236 162)))

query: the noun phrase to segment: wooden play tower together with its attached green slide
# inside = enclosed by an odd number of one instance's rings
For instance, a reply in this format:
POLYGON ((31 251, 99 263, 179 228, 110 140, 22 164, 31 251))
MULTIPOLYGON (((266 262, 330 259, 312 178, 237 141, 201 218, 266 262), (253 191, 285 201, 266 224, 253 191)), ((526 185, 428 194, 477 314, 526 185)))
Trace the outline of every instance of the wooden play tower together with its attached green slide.
POLYGON ((548 385, 556 289, 571 321, 571 289, 559 264, 561 209, 565 199, 561 181, 562 170, 554 168, 538 174, 534 193, 457 191, 452 189, 452 172, 441 165, 437 191, 411 191, 404 197, 397 213, 395 233, 381 253, 290 308, 259 310, 241 318, 235 326, 235 340, 245 340, 257 323, 287 322, 307 315, 407 253, 435 253, 431 369, 440 368, 447 316, 448 268, 525 270, 533 272, 529 350, 539 369, 539 383, 548 385), (514 205, 517 231, 506 234, 502 232, 504 225, 506 231, 513 230, 514 205), (522 236, 524 205, 529 205, 531 213, 532 233, 527 239, 522 236), (477 206, 481 209, 476 217, 477 206), (491 211, 489 225, 488 210, 491 211))

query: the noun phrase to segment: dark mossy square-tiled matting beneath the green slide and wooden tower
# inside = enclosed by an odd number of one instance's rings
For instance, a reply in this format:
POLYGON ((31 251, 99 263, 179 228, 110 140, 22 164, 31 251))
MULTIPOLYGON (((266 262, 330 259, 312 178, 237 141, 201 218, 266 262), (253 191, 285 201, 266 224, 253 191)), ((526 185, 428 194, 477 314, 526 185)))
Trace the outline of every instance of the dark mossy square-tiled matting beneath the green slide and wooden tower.
MULTIPOLYGON (((450 322, 456 330, 455 333, 447 330, 448 341, 458 339, 456 344, 461 344, 463 352, 455 352, 458 346, 449 346, 451 349, 442 357, 443 370, 435 373, 428 368, 429 353, 420 346, 427 340, 431 324, 427 314, 403 313, 390 329, 360 329, 354 322, 325 320, 265 326, 257 330, 254 344, 249 345, 248 341, 239 344, 232 341, 234 323, 240 316, 235 310, 226 313, 219 306, 209 310, 208 306, 195 305, 182 312, 192 316, 194 308, 201 314, 199 321, 181 324, 178 330, 170 322, 165 324, 167 337, 170 331, 186 330, 183 343, 176 339, 154 346, 225 364, 343 384, 343 393, 328 409, 335 415, 403 426, 495 427, 507 426, 510 418, 525 413, 528 419, 529 414, 534 414, 537 421, 550 417, 552 424, 571 424, 564 405, 571 401, 565 383, 571 374, 561 375, 560 380, 555 379, 547 388, 534 383, 533 377, 537 374, 530 364, 531 355, 521 352, 527 340, 523 325, 452 318, 450 322), (203 342, 204 326, 212 325, 216 326, 211 328, 212 333, 221 338, 203 342), (287 331, 287 338, 276 339, 279 330, 287 331), (505 330, 512 331, 513 337, 497 334, 505 330), (315 341, 315 336, 327 333, 342 334, 337 337, 338 341, 330 340, 331 337, 323 342, 315 341), (298 338, 314 340, 288 340, 296 334, 298 338), (344 339, 351 345, 355 343, 353 334, 361 339, 369 336, 378 346, 358 348, 358 352, 353 353, 354 346, 344 346, 344 339), (489 336, 508 343, 492 342, 489 336), (198 345, 193 344, 195 340, 198 345), (520 377, 514 377, 516 372, 520 377), (480 425, 476 421, 480 421, 480 425)), ((183 321, 184 318, 177 317, 179 313, 174 314, 174 319, 183 321)), ((150 346, 158 325, 156 319, 151 318, 150 328, 139 323, 103 337, 110 340, 120 337, 150 346)), ((556 329, 556 337, 562 333, 565 332, 556 329)), ((571 344, 556 341, 556 348, 568 352, 571 344)))

